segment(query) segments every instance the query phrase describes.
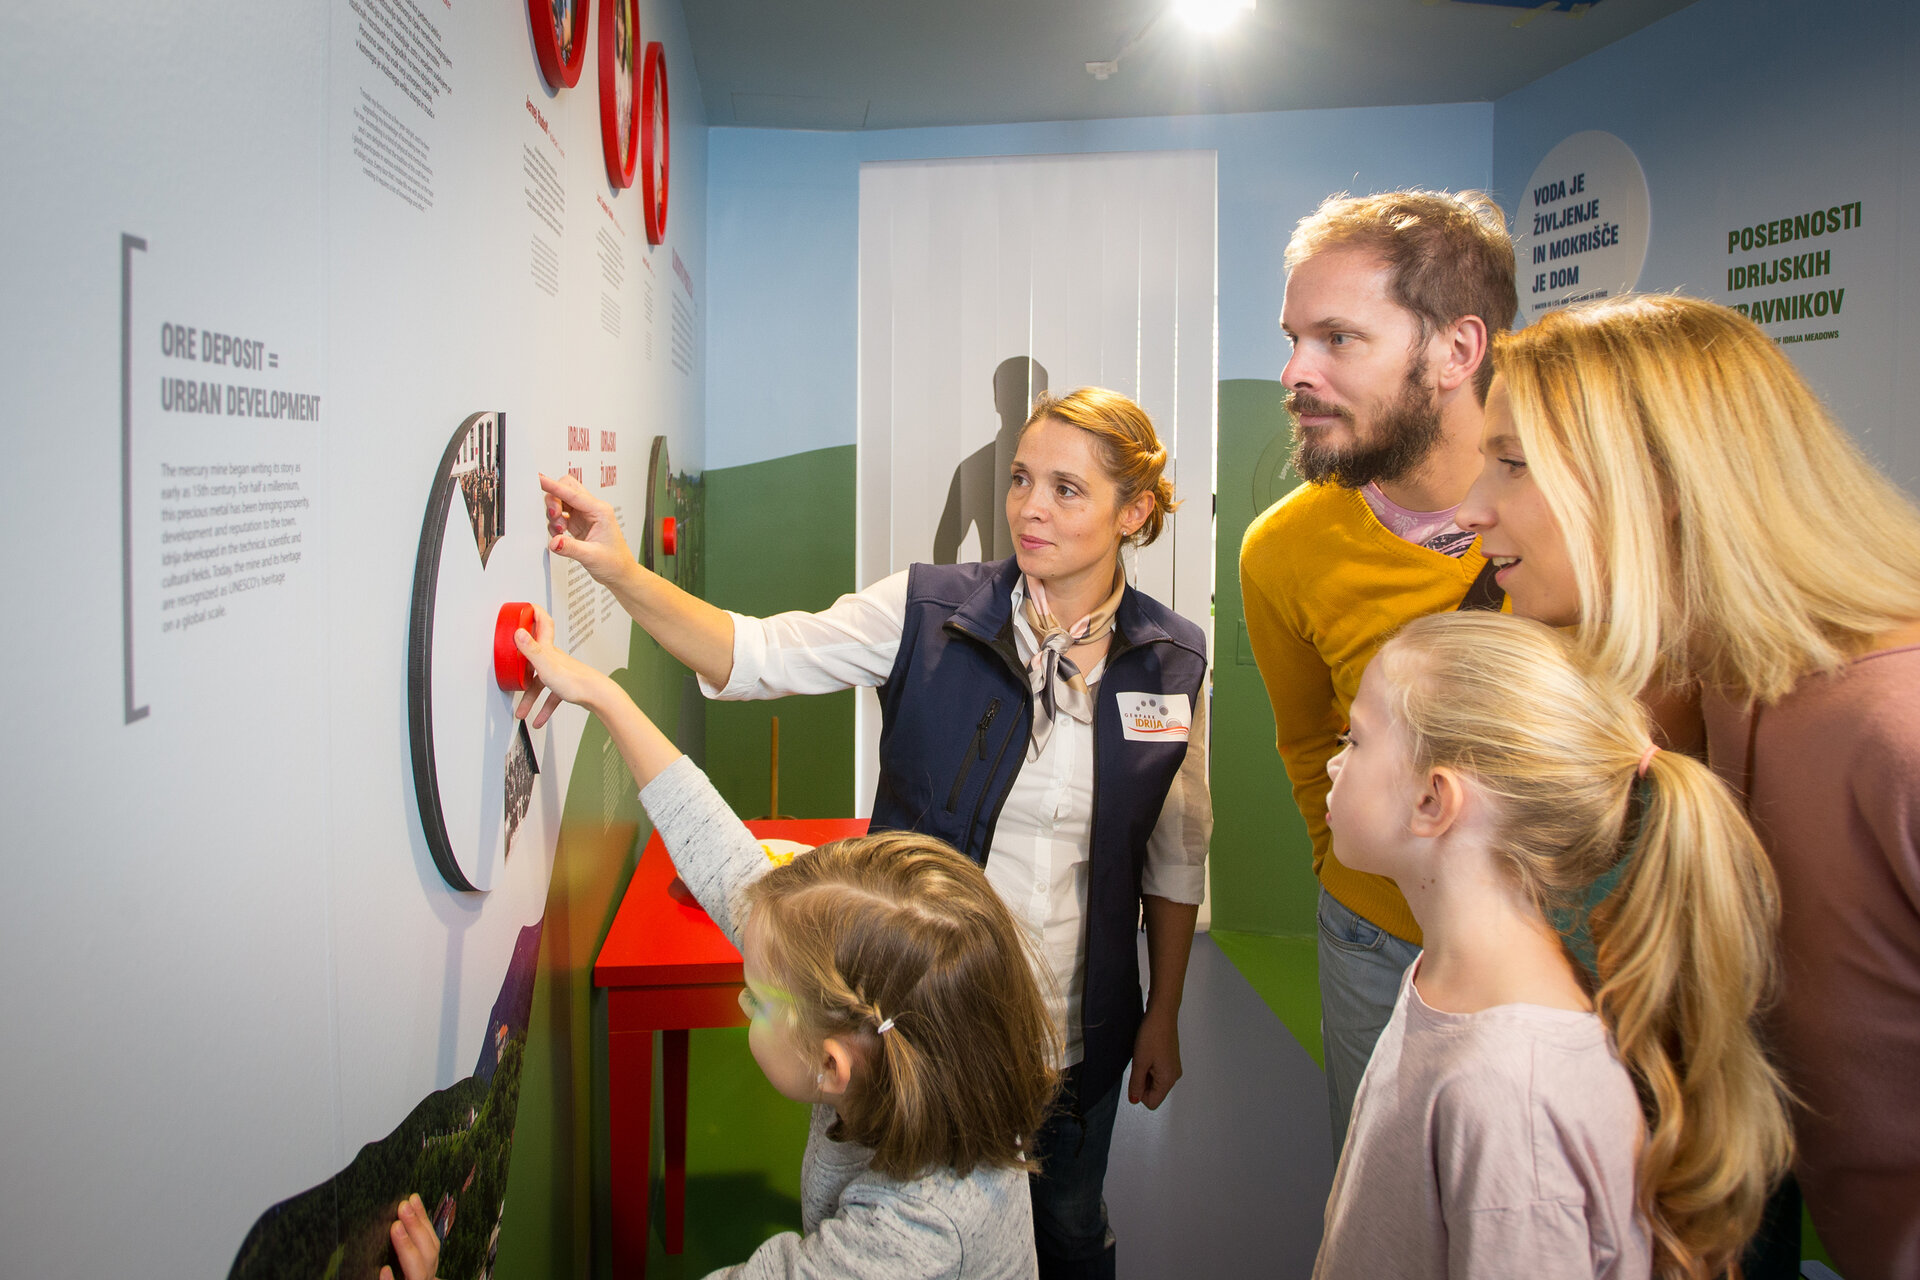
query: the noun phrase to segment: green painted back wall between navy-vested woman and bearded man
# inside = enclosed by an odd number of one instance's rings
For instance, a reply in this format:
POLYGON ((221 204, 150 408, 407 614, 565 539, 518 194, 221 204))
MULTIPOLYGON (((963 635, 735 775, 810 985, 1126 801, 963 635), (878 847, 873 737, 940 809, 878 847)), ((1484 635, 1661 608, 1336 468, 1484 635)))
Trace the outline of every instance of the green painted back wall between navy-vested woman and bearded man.
POLYGON ((1219 384, 1213 581, 1213 927, 1313 935, 1313 844, 1273 748, 1273 706, 1246 643, 1240 535, 1298 484, 1286 466, 1284 388, 1219 384))

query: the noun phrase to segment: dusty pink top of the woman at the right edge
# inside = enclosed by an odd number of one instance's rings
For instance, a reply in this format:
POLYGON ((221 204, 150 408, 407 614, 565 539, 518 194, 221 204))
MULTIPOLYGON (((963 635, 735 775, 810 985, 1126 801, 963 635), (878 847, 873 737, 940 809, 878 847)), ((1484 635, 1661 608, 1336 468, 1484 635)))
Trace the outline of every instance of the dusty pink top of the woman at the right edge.
MULTIPOLYGON (((1745 789, 1747 716, 1707 750, 1745 789)), ((1795 1174, 1847 1280, 1920 1276, 1920 645, 1761 712, 1753 825, 1780 877, 1770 1048, 1799 1100, 1795 1174)))

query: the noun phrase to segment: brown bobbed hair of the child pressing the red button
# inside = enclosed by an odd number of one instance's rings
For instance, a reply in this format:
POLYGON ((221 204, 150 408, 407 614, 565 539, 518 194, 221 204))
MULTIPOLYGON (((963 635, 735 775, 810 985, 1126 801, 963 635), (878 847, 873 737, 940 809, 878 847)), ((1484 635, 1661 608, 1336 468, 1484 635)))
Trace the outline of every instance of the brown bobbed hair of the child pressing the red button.
POLYGON ((1039 1169, 1056 1032, 985 871, 933 837, 889 831, 768 871, 747 910, 801 1034, 858 1057, 833 1138, 872 1148, 874 1169, 902 1180, 1039 1169))

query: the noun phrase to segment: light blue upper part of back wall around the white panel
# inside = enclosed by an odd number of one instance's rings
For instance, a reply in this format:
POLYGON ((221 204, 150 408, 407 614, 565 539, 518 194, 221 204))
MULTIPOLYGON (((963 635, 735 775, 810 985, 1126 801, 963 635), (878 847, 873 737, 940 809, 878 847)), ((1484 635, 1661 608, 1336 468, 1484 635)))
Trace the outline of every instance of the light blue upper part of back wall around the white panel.
MULTIPOLYGON (((1336 190, 1486 186, 1492 104, 708 134, 707 464, 854 443, 860 163, 1219 152, 1219 376, 1279 378, 1281 249, 1336 190)), ((1523 175, 1524 177, 1524 175, 1523 175)))

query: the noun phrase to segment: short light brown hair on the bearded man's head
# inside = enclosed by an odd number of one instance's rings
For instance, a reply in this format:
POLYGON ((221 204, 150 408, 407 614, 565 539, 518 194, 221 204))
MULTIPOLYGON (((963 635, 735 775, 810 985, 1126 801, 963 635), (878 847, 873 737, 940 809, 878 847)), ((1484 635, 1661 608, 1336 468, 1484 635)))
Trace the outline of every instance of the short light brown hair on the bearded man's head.
MULTIPOLYGON (((1513 284, 1507 215, 1486 192, 1380 192, 1329 196, 1300 219, 1286 242, 1286 269, 1329 249, 1369 249, 1386 261, 1394 301, 1427 332, 1465 315, 1486 322, 1488 338, 1513 328, 1521 297, 1513 284)), ((1480 399, 1494 380, 1492 344, 1475 370, 1480 399)))

